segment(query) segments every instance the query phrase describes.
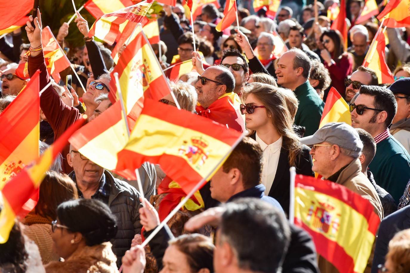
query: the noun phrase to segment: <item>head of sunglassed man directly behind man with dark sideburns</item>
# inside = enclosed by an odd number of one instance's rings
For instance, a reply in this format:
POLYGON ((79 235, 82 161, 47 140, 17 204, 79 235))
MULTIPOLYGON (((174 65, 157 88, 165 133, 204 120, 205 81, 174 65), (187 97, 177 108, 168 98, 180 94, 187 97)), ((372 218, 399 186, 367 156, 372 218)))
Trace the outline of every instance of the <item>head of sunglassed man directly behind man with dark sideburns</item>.
POLYGON ((345 100, 349 103, 356 93, 359 92, 362 85, 378 85, 376 72, 370 68, 359 66, 355 72, 344 80, 346 86, 345 100))

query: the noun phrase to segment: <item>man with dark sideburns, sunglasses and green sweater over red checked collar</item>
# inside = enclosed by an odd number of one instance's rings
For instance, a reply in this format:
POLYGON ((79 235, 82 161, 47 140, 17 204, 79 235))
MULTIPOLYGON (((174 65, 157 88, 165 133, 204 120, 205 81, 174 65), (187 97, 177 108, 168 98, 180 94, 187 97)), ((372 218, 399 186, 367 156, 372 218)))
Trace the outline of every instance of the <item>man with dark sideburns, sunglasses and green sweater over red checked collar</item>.
POLYGON ((396 109, 392 91, 381 86, 362 85, 350 103, 352 126, 366 130, 376 141, 376 155, 369 164, 374 180, 399 204, 410 178, 410 155, 388 129, 396 109))

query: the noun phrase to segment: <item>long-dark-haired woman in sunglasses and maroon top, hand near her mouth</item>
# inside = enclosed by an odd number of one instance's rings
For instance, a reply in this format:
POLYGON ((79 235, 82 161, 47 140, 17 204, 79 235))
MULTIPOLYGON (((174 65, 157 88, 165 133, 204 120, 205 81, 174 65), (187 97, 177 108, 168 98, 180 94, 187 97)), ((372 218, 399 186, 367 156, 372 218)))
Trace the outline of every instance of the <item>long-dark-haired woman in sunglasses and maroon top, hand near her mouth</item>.
MULTIPOLYGON (((337 92, 345 96, 346 88, 344 79, 353 72, 353 57, 346 52, 344 41, 339 31, 326 30, 320 36, 320 41, 324 46, 320 55, 323 64, 328 69, 332 83, 337 92)), ((325 94, 325 97, 327 94, 325 94)))

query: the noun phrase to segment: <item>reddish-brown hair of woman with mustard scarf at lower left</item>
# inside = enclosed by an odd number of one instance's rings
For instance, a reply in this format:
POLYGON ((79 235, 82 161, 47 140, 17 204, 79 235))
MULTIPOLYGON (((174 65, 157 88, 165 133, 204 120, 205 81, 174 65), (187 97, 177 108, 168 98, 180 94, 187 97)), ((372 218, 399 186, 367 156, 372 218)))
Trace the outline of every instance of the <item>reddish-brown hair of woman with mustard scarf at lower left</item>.
POLYGON ((68 175, 48 171, 40 184, 39 201, 34 209, 36 214, 55 220, 58 205, 77 198, 77 187, 68 175))

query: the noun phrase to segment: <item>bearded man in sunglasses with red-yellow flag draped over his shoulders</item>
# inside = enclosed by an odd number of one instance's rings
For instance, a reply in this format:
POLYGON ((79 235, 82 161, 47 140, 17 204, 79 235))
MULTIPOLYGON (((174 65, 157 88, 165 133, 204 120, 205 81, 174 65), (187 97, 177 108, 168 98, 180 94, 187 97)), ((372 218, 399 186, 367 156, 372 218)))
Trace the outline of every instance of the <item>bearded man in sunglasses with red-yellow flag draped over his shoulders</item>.
POLYGON ((239 132, 245 130, 245 121, 239 112, 241 104, 235 89, 235 78, 224 66, 210 66, 198 76, 196 112, 239 132))

